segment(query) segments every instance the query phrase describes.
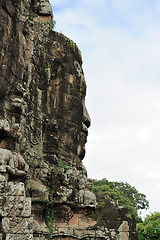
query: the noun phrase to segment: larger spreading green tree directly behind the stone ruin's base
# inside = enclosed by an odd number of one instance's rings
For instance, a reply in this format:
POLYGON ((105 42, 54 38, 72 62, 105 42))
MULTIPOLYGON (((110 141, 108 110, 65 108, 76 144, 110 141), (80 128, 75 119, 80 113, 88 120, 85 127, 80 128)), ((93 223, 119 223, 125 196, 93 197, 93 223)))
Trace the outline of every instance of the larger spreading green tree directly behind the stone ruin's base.
POLYGON ((98 199, 101 195, 108 195, 109 198, 116 200, 119 206, 127 208, 134 216, 138 216, 139 209, 148 209, 149 206, 146 196, 126 182, 109 182, 105 178, 94 180, 93 192, 98 199))

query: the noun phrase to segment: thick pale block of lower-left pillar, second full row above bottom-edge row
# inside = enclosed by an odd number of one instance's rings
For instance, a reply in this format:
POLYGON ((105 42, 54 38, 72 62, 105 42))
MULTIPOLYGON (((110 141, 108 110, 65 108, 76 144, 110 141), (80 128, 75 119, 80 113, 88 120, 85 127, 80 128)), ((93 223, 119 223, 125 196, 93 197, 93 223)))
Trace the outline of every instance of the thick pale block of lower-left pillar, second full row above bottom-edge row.
POLYGON ((2 200, 3 217, 29 217, 31 215, 31 199, 19 196, 6 196, 2 200))

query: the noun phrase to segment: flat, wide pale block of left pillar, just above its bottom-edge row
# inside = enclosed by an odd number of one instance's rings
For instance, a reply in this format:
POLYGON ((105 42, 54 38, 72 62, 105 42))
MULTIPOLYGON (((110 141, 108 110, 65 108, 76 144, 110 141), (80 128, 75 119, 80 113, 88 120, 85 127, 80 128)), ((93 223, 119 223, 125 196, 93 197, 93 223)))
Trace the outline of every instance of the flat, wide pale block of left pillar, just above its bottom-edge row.
POLYGON ((6 218, 2 219, 2 228, 5 233, 31 234, 33 232, 33 218, 6 218))

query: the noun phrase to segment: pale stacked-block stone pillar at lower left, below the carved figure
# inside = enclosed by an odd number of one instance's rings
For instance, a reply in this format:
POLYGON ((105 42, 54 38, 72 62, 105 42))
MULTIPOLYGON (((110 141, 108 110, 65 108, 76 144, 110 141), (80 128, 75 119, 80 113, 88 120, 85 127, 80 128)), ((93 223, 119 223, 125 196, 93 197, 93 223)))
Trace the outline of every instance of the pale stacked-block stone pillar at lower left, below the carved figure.
POLYGON ((0 169, 0 176, 3 174, 8 177, 0 183, 0 239, 33 239, 31 198, 26 197, 25 186, 19 181, 19 175, 9 181, 6 179, 9 179, 10 172, 6 170, 4 173, 0 169))

